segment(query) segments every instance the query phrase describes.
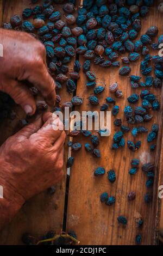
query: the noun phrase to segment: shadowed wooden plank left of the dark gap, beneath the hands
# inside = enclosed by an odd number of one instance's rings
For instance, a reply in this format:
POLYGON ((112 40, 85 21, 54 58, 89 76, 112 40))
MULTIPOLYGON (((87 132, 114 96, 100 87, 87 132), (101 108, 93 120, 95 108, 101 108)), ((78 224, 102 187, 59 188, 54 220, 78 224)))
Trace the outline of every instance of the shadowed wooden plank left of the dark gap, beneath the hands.
MULTIPOLYGON (((30 1, 28 0, 5 1, 3 22, 9 21, 10 17, 14 14, 21 15, 24 8, 33 8, 35 6, 29 3, 30 1)), ((41 3, 41 1, 39 3, 41 3)), ((56 4, 55 9, 60 10, 61 13, 63 13, 61 5, 56 4)), ((64 16, 62 18, 64 19, 64 16)), ((72 68, 73 63, 74 59, 70 63, 70 68, 72 68)), ((65 86, 63 86, 59 94, 61 94, 62 102, 71 100, 72 95, 67 93, 65 86)), ((0 140, 1 144, 5 141, 5 139, 12 135, 15 126, 17 125, 18 119, 26 117, 20 107, 17 108, 16 112, 18 115, 18 118, 16 120, 12 121, 12 123, 11 121, 7 120, 0 127, 0 130, 3 134, 0 140)), ((57 184, 55 186, 55 194, 53 196, 49 196, 47 192, 43 192, 26 202, 26 204, 22 207, 20 212, 18 212, 14 220, 1 231, 1 245, 20 245, 21 236, 25 232, 28 232, 36 237, 40 237, 46 234, 48 230, 54 230, 56 233, 60 233, 60 231, 62 230, 62 222, 64 216, 67 156, 68 150, 66 146, 64 156, 65 177, 60 182, 60 184, 57 184)))

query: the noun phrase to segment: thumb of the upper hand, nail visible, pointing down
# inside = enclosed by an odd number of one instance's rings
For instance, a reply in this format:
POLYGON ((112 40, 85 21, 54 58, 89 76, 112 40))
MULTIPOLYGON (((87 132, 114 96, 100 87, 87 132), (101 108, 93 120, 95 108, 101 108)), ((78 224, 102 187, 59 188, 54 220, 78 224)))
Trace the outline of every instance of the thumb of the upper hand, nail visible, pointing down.
POLYGON ((12 81, 7 93, 18 105, 21 105, 26 114, 33 115, 35 113, 36 102, 34 96, 22 82, 12 81))

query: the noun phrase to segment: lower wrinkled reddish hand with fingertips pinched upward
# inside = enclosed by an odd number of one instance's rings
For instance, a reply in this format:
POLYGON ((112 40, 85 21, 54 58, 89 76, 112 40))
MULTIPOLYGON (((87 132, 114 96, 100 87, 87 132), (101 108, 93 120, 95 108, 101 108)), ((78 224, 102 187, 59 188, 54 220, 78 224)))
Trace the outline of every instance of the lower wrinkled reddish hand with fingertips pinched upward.
POLYGON ((26 200, 61 180, 65 132, 54 130, 58 125, 62 123, 57 116, 45 113, 1 146, 0 229, 26 200))

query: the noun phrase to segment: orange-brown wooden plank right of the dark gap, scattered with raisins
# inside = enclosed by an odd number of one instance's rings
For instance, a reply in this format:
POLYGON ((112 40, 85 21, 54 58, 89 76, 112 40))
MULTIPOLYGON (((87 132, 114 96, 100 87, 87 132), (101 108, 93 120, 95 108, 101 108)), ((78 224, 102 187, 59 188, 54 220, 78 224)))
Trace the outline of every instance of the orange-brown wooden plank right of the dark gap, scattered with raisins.
MULTIPOLYGON (((163 34, 162 16, 158 13, 155 6, 150 8, 149 15, 142 19, 141 34, 145 33, 147 28, 155 25, 159 27, 159 35, 163 34)), ((141 35, 139 34, 139 36, 141 35)), ((138 37, 139 38, 139 37, 138 37)), ((156 39, 154 40, 156 41, 156 39)), ((156 51, 150 51, 151 54, 157 54, 156 51)), ((121 56, 122 57, 122 56, 121 56)), ((83 58, 79 59, 81 63, 83 58)), ((139 62, 131 64, 131 74, 140 74, 140 58, 139 62)), ((122 118, 123 124, 127 122, 123 115, 123 109, 128 105, 127 97, 132 93, 141 92, 140 89, 131 89, 129 78, 120 77, 118 69, 102 69, 98 66, 92 65, 91 70, 96 72, 97 84, 106 83, 105 91, 99 96, 100 103, 105 102, 106 96, 111 96, 109 93, 109 84, 118 82, 122 90, 123 99, 116 99, 116 104, 120 106, 120 113, 117 117, 122 118)), ((93 93, 93 90, 88 90, 85 87, 86 78, 81 73, 81 78, 78 81, 77 95, 84 97, 84 104, 78 108, 81 112, 86 110, 99 110, 99 107, 92 107, 89 105, 88 97, 93 93)), ((160 100, 161 90, 150 88, 160 100)), ((141 100, 135 106, 141 106, 141 100)), ((111 109, 111 107, 110 107, 111 109)), ((109 110, 110 110, 109 109, 109 110)), ((153 112, 153 120, 150 123, 143 124, 148 130, 151 130, 153 123, 159 123, 160 113, 153 112)), ((112 118, 112 123, 114 118, 112 118)), ((162 120, 161 120, 162 121, 162 120)), ((133 127, 133 126, 131 126, 133 127)), ((76 141, 83 145, 79 153, 75 153, 75 162, 72 167, 72 175, 70 178, 70 190, 68 200, 67 213, 67 230, 73 229, 76 231, 78 239, 82 245, 134 245, 135 236, 142 234, 142 244, 151 245, 155 243, 155 218, 156 218, 156 204, 158 191, 158 174, 156 171, 154 181, 154 197, 153 203, 146 204, 143 197, 146 192, 152 193, 152 188, 146 188, 145 182, 147 177, 141 171, 141 165, 146 162, 155 162, 156 153, 149 151, 149 144, 147 143, 147 135, 138 136, 136 139, 131 136, 131 133, 124 135, 126 142, 128 139, 139 141, 141 139, 142 145, 136 153, 132 153, 127 146, 124 149, 113 151, 110 149, 112 144, 112 137, 115 131, 118 131, 113 124, 111 124, 111 136, 108 138, 101 138, 100 149, 102 151, 101 159, 95 159, 89 153, 86 153, 84 144, 90 143, 90 139, 77 138, 76 141), (135 176, 128 174, 130 169, 130 161, 133 158, 140 159, 140 169, 135 176), (84 161, 83 161, 84 160, 84 161), (110 184, 107 180, 106 174, 101 178, 93 176, 93 171, 98 167, 103 166, 107 171, 114 169, 117 175, 116 182, 110 184), (101 204, 99 196, 102 192, 108 192, 109 195, 116 197, 116 204, 114 206, 106 206, 101 204), (130 191, 136 192, 136 199, 133 202, 128 202, 127 194, 130 191), (128 218, 126 228, 117 223, 117 216, 124 215, 128 218), (145 221, 142 229, 136 227, 136 221, 143 218, 145 221)), ((160 137, 158 139, 161 138, 160 137)), ((157 162, 156 162, 157 163, 157 162)))

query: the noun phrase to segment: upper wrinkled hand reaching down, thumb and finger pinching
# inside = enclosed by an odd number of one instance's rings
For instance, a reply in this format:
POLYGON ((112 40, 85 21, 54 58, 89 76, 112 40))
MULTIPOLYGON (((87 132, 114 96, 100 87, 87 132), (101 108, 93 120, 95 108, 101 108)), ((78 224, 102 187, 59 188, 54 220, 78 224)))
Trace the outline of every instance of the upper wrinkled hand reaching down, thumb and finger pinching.
POLYGON ((55 103, 55 82, 46 65, 46 50, 39 40, 24 32, 0 29, 0 90, 8 93, 24 111, 33 115, 36 103, 24 81, 33 84, 48 105, 55 103))

